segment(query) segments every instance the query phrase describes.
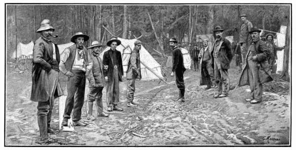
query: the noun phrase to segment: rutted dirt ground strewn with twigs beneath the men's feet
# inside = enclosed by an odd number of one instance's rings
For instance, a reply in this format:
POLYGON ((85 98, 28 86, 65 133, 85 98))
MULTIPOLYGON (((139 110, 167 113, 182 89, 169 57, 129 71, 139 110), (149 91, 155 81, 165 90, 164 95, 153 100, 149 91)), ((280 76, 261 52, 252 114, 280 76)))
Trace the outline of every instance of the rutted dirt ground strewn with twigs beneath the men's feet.
MULTIPOLYGON (((168 68, 169 69, 169 68, 168 68)), ((165 84, 158 80, 137 81, 135 101, 139 107, 126 107, 126 81, 120 83, 120 106, 123 112, 109 118, 85 121, 86 127, 74 132, 50 135, 54 143, 40 143, 37 125, 37 102, 30 101, 31 73, 6 68, 5 145, 82 145, 82 146, 148 146, 148 145, 289 145, 290 91, 264 92, 263 101, 250 104, 249 86, 237 87, 239 71, 229 69, 229 97, 213 98, 217 89, 198 86, 197 71, 185 72, 185 102, 175 102, 178 89, 174 77, 165 84), (234 89, 234 90, 233 90, 234 89)), ((65 91, 66 77, 60 75, 65 91)), ((289 83, 286 83, 289 84, 289 83)), ((66 93, 66 92, 65 92, 66 93)), ((85 100, 88 93, 86 86, 85 100)), ((105 93, 105 91, 104 91, 105 93)), ((103 94, 104 110, 107 110, 103 94)), ((59 100, 54 103, 51 126, 58 129, 59 100)), ((95 108, 95 107, 94 107, 95 108)), ((85 105, 82 120, 86 120, 85 105)), ((107 111, 106 111, 107 112, 107 111)), ((94 116, 97 114, 93 110, 94 116)))

